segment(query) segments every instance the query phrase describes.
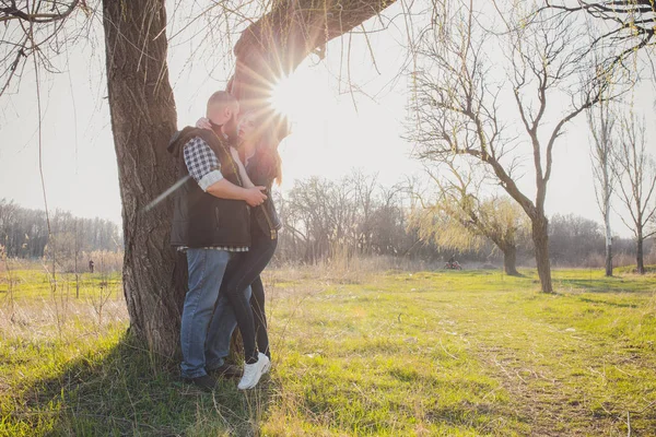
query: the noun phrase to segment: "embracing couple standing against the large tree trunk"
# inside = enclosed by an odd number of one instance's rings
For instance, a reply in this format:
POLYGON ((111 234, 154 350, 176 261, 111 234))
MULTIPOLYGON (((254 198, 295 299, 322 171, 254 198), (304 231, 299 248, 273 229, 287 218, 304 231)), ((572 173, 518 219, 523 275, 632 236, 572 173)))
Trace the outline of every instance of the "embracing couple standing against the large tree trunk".
POLYGON ((280 182, 278 142, 258 114, 239 114, 227 92, 208 101, 207 118, 177 132, 168 151, 179 160, 172 245, 184 251, 189 290, 183 308, 183 380, 212 390, 216 377, 254 388, 271 368, 260 273, 278 243, 271 201, 280 182), (225 363, 235 327, 244 369, 225 363))

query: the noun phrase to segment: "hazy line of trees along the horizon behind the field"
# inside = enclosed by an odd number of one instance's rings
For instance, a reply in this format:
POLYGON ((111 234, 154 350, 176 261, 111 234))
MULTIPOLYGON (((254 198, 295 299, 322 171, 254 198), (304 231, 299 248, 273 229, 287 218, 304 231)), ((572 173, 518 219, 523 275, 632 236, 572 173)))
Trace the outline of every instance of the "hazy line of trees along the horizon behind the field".
MULTIPOLYGON (((466 267, 503 268, 506 274, 516 275, 518 267, 534 263, 529 224, 507 197, 442 198, 432 203, 427 197, 420 199, 407 180, 384 186, 377 175, 362 170, 339 180, 308 177, 296 180, 289 191, 274 193, 283 220, 277 265, 387 257, 440 268, 455 256, 466 267), (512 246, 511 257, 507 246, 512 246)), ((601 265, 602 224, 571 213, 549 220, 554 265, 601 265)), ((0 237, 10 258, 55 256, 71 264, 82 253, 122 252, 120 227, 107 220, 75 217, 58 210, 51 215, 51 229, 48 239, 45 211, 0 200, 0 237)), ((635 257, 634 239, 612 238, 616 259, 625 262, 635 257)), ((645 257, 656 258, 654 238, 647 238, 644 247, 645 257)), ((78 271, 85 271, 82 263, 86 261, 80 259, 78 271)))

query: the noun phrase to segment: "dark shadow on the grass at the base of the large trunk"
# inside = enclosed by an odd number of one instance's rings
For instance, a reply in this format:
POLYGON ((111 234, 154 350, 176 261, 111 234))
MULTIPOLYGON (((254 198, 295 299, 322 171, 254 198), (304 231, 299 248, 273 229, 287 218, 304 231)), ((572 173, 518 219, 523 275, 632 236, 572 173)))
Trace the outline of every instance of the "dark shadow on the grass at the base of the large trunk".
POLYGON ((126 335, 105 353, 70 362, 55 378, 22 387, 13 405, 2 405, 0 429, 28 436, 257 434, 271 382, 244 394, 236 380, 224 380, 204 393, 183 383, 176 367, 156 365, 126 335))

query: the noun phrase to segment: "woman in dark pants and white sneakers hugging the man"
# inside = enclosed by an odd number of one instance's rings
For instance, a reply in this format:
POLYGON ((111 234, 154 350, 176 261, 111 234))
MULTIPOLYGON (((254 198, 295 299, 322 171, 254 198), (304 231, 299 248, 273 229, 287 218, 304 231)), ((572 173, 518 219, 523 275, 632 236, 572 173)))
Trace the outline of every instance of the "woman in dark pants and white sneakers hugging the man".
MULTIPOLYGON (((199 120, 197 126, 207 127, 204 119, 199 120)), ((244 114, 238 125, 238 150, 231 147, 239 167, 243 186, 246 188, 267 187, 267 200, 250 210, 251 244, 249 250, 235 255, 236 258, 231 260, 234 268, 231 268, 230 274, 224 277, 220 292, 220 296, 226 296, 233 306, 244 342, 246 364, 239 381, 239 389, 255 387, 259 376, 269 370, 271 358, 265 314, 265 291, 260 273, 273 257, 278 244, 278 231, 281 227, 270 196, 273 181, 280 184, 281 180, 281 162, 278 154, 278 142, 267 135, 261 127, 262 123, 257 122, 254 113, 244 114), (249 285, 253 293, 249 305, 247 305, 244 293, 249 285), (261 354, 266 356, 263 358, 266 364, 254 365, 257 364, 261 354), (259 373, 259 375, 254 375, 254 373, 259 373)), ((210 332, 214 330, 210 327, 210 332)), ((210 342, 212 341, 211 336, 210 334, 210 339, 208 339, 210 342)))

